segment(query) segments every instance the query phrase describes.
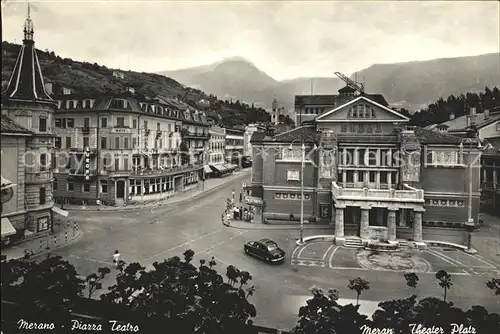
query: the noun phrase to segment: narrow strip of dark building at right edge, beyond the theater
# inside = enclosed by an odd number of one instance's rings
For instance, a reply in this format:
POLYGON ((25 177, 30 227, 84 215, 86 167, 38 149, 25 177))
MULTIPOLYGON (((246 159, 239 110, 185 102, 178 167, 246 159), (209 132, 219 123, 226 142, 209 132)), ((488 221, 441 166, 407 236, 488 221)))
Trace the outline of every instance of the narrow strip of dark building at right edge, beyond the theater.
POLYGON ((481 201, 485 211, 500 215, 500 149, 481 155, 481 201))

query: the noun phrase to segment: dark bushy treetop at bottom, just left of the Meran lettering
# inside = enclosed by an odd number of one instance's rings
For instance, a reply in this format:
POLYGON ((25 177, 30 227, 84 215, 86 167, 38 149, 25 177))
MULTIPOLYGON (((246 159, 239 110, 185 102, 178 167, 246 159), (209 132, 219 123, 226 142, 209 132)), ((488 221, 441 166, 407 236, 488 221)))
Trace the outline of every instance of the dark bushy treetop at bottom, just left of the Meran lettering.
POLYGON ((299 309, 299 321, 293 333, 361 333, 367 317, 359 314, 358 305, 338 304, 337 290, 329 290, 325 295, 321 289, 313 287, 311 293, 312 299, 299 309))

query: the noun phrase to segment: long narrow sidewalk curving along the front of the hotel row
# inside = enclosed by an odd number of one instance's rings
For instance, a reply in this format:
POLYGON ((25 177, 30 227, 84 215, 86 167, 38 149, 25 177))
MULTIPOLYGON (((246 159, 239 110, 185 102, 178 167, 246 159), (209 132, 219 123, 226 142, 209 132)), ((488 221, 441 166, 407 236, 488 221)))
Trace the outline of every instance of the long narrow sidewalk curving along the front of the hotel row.
POLYGON ((148 202, 148 203, 141 203, 141 204, 130 204, 126 206, 104 206, 101 205, 99 208, 96 205, 71 205, 71 204, 64 204, 64 210, 73 210, 73 211, 78 211, 78 210, 85 210, 85 211, 126 211, 126 210, 136 210, 136 209, 141 209, 141 208, 149 208, 149 207, 156 207, 160 205, 171 205, 171 204, 177 204, 180 202, 183 202, 188 199, 192 199, 194 197, 197 197, 199 195, 202 195, 210 190, 217 189, 219 187, 222 187, 223 185, 240 179, 244 177, 248 177, 250 175, 250 170, 242 170, 238 172, 234 172, 233 175, 227 176, 225 178, 216 178, 216 179, 207 179, 205 180, 205 185, 203 186, 200 184, 198 188, 188 190, 184 193, 175 195, 173 197, 170 197, 168 199, 164 200, 159 200, 159 201, 154 201, 154 202, 148 202), (205 188, 204 190, 201 190, 202 188, 205 188))

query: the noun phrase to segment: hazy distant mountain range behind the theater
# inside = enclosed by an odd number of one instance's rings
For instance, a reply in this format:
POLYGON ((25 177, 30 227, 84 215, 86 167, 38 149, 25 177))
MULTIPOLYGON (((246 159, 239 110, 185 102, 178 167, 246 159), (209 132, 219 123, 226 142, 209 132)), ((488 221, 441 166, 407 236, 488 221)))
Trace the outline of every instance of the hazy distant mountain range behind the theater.
MULTIPOLYGON (((442 58, 395 64, 375 64, 352 75, 365 82, 368 93, 383 94, 394 106, 421 109, 441 96, 481 91, 500 84, 500 54, 442 58)), ((336 77, 295 78, 278 81, 243 58, 160 74, 215 94, 266 108, 276 96, 293 109, 295 95, 336 94, 344 83, 336 77)))

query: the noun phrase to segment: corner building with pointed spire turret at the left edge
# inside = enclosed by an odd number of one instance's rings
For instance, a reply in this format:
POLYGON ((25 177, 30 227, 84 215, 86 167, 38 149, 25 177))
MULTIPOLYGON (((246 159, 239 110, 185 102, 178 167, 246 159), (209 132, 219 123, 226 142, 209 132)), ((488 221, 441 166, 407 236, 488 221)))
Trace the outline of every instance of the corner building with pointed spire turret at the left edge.
POLYGON ((62 213, 53 208, 50 159, 57 103, 45 91, 33 34, 28 14, 23 45, 2 92, 2 178, 16 184, 13 198, 2 205, 2 229, 8 220, 16 238, 48 233, 53 211, 62 213))

